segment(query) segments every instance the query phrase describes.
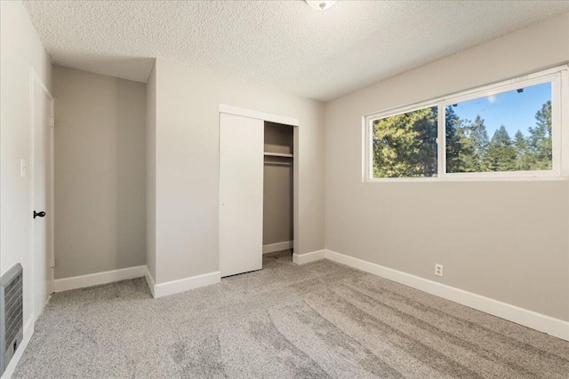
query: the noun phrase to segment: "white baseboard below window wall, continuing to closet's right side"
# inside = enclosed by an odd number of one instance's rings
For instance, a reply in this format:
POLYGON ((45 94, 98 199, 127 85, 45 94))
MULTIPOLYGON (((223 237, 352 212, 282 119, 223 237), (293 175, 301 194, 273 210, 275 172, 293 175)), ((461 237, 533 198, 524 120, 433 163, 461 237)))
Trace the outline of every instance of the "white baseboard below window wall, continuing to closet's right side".
POLYGON ((373 264, 355 257, 349 257, 332 250, 319 250, 299 256, 293 255, 293 262, 302 265, 327 258, 342 265, 348 265, 358 270, 373 273, 382 278, 405 284, 431 295, 443 297, 455 303, 469 306, 481 312, 492 314, 504 320, 516 322, 527 328, 533 328, 551 336, 569 341, 569 322, 555 319, 547 315, 529 311, 516 305, 502 303, 489 297, 480 296, 463 289, 447 286, 437 281, 428 280, 406 272, 400 272, 389 267, 373 264))

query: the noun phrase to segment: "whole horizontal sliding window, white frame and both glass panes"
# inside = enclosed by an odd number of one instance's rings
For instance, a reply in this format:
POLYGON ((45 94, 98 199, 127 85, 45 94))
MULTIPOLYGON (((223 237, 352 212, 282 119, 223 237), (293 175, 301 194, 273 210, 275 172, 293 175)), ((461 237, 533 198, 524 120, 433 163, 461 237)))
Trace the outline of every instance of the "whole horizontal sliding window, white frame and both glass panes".
POLYGON ((566 76, 557 67, 366 116, 364 179, 561 176, 566 76))

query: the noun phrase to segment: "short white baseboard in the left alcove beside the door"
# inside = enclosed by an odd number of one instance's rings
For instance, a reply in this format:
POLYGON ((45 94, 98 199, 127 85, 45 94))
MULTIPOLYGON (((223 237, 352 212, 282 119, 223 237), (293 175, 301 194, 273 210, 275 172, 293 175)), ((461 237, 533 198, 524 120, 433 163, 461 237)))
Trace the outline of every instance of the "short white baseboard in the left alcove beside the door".
POLYGON ((113 281, 141 278, 147 271, 146 265, 122 268, 119 270, 90 273, 88 275, 53 280, 53 292, 68 291, 69 289, 98 286, 113 281))

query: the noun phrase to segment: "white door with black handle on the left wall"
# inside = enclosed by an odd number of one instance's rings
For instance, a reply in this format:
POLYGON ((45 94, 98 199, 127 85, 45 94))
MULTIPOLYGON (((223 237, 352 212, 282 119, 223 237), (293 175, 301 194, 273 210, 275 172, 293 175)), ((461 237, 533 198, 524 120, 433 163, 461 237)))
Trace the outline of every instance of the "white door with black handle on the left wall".
POLYGON ((34 317, 52 293, 52 98, 38 78, 32 78, 33 159, 32 215, 34 317))

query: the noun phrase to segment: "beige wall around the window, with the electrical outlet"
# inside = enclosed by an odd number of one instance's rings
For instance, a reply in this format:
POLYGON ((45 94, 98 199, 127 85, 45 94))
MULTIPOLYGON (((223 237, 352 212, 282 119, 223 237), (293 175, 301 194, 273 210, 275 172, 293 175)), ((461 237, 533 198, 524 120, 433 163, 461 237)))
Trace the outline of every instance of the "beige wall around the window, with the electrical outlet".
POLYGON ((362 115, 567 62, 568 41, 565 14, 327 103, 326 249, 569 320, 567 179, 361 179, 362 115))

